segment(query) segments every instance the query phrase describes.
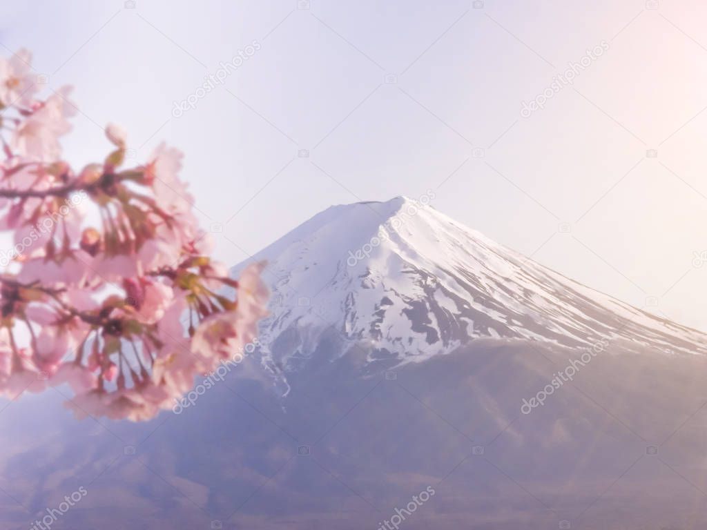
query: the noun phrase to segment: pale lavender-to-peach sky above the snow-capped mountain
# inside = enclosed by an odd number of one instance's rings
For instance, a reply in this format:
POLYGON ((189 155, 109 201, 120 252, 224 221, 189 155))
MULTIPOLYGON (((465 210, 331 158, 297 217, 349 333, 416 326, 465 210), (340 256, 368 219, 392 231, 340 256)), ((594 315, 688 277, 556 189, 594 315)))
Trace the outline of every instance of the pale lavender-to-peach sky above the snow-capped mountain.
POLYGON ((4 0, 0 52, 30 49, 47 93, 75 87, 75 165, 103 159, 108 122, 136 163, 184 151, 229 265, 332 204, 431 189, 493 240, 707 331, 706 16, 697 0, 4 0), (208 76, 223 81, 199 91, 208 76))

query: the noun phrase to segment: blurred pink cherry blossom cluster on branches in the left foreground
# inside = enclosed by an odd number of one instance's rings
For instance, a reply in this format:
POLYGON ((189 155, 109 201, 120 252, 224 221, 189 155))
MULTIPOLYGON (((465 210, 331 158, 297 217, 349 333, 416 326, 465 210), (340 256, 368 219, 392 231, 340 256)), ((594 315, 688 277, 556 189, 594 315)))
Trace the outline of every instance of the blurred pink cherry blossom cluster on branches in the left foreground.
POLYGON ((109 125, 105 161, 72 170, 69 89, 40 100, 36 81, 28 52, 0 58, 0 396, 69 384, 80 417, 153 418, 255 338, 263 265, 235 281, 211 260, 174 148, 124 167, 109 125))

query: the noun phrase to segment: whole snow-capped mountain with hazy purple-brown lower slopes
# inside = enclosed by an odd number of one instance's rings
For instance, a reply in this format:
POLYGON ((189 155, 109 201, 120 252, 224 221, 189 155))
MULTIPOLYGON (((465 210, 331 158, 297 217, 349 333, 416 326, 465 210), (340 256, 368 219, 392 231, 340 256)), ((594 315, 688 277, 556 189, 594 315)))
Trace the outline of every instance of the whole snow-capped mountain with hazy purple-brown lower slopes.
POLYGON ((182 410, 0 404, 2 528, 81 487, 57 528, 707 528, 699 331, 402 197, 333 206, 254 259, 262 348, 182 410))

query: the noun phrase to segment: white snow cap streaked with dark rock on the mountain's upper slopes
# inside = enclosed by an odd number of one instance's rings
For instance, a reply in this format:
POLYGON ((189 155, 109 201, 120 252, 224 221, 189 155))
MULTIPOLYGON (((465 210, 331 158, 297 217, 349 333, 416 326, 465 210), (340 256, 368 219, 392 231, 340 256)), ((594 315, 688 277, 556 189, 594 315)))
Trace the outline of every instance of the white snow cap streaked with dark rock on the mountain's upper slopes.
POLYGON ((256 254, 273 290, 260 336, 269 360, 293 370, 331 329, 386 366, 479 337, 707 353, 699 331, 571 281, 423 202, 332 206, 256 254))

